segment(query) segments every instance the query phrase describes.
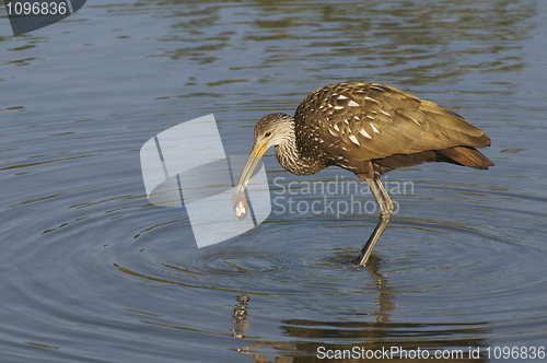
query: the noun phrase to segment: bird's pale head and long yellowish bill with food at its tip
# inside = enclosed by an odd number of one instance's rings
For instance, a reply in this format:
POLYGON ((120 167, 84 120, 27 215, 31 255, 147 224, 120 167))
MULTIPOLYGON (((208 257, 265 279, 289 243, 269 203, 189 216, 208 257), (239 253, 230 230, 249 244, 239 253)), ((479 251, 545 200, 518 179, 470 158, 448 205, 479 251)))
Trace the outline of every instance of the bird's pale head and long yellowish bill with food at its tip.
POLYGON ((235 187, 232 198, 232 208, 235 215, 243 220, 247 215, 247 203, 245 198, 245 188, 253 175, 258 161, 263 157, 266 150, 270 147, 288 142, 294 134, 294 119, 287 114, 270 114, 264 116, 255 126, 255 143, 243 172, 235 187))

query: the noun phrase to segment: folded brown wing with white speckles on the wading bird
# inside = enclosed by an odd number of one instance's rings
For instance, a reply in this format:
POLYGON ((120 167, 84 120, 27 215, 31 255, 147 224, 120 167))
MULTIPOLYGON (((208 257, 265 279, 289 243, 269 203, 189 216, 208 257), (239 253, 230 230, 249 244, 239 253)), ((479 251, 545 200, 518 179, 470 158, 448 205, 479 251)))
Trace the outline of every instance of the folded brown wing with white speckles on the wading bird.
POLYGON ((296 109, 295 132, 307 152, 357 161, 490 144, 459 115, 375 83, 337 83, 311 93, 296 109))

